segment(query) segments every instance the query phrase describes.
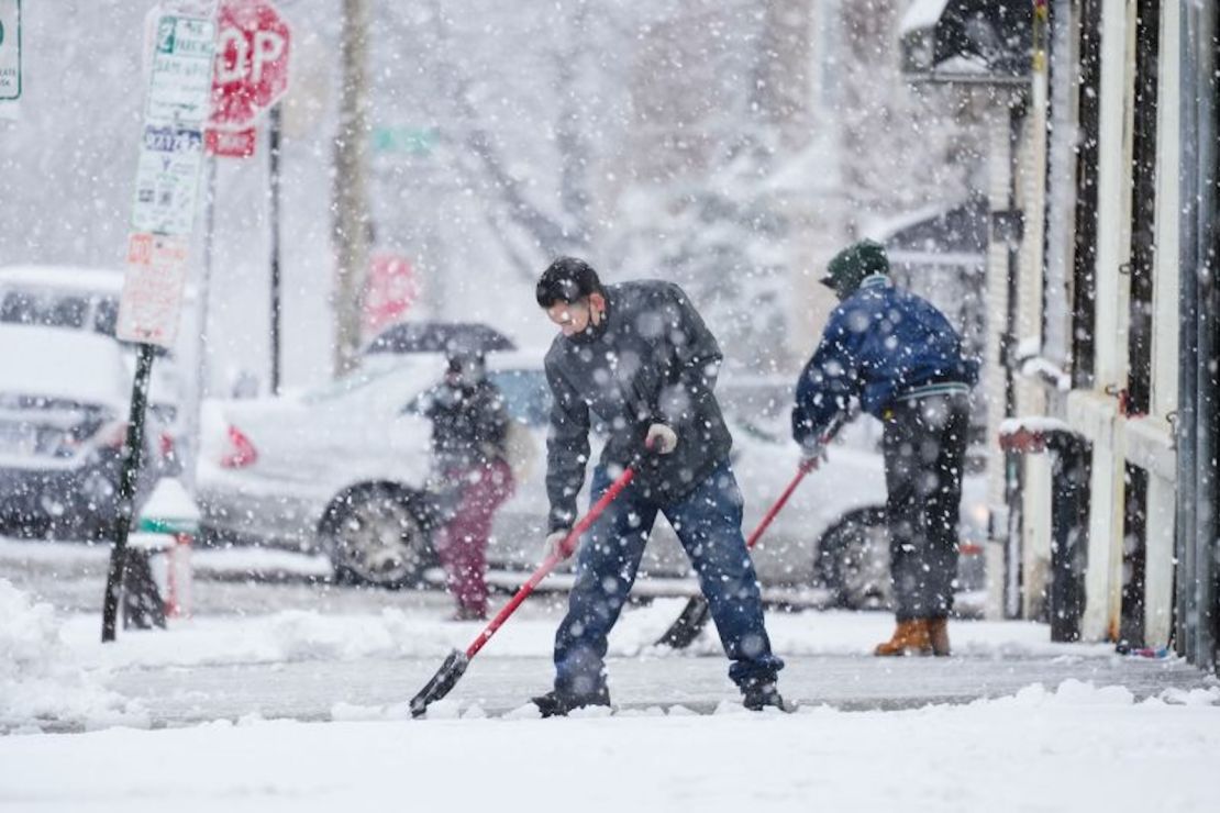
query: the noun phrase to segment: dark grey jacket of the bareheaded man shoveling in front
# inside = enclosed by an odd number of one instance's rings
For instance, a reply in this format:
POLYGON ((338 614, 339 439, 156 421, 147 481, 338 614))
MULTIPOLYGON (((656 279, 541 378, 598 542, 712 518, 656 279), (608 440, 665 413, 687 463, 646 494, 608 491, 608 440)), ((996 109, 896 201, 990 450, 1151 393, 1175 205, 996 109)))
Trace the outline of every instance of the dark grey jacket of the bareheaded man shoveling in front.
POLYGON ((645 456, 637 467, 636 484, 662 506, 689 494, 732 446, 714 394, 720 346, 682 289, 664 282, 610 285, 606 306, 599 325, 556 336, 547 353, 551 530, 576 519, 590 413, 608 433, 604 466, 631 464, 653 423, 677 433, 672 453, 645 456))

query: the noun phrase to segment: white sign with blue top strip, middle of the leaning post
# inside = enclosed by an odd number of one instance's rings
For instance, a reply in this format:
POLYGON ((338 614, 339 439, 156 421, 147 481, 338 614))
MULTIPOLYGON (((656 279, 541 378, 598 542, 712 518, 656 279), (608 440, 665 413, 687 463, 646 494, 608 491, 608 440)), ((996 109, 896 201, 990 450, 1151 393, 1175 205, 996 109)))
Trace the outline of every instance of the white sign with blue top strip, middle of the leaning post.
POLYGON ((189 235, 204 162, 204 134, 172 124, 145 124, 135 168, 132 228, 189 235))

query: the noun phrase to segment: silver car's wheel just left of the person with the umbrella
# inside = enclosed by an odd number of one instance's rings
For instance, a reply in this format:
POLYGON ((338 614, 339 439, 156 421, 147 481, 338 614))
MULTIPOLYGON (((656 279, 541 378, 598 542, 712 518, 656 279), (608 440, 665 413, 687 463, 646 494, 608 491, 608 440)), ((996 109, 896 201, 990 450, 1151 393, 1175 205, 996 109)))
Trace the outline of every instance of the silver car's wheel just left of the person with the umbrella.
POLYGON ((415 495, 396 485, 364 485, 339 495, 321 538, 340 581, 415 586, 436 563, 427 513, 415 495))

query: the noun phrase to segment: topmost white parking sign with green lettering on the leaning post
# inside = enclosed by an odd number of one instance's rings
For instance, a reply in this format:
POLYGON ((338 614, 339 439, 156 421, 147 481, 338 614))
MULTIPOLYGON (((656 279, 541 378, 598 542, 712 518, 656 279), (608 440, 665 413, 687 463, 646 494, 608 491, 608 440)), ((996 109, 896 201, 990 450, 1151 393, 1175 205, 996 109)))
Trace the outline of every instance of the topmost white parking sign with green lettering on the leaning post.
POLYGON ((156 21, 146 122, 203 129, 212 93, 216 23, 163 13, 156 21))

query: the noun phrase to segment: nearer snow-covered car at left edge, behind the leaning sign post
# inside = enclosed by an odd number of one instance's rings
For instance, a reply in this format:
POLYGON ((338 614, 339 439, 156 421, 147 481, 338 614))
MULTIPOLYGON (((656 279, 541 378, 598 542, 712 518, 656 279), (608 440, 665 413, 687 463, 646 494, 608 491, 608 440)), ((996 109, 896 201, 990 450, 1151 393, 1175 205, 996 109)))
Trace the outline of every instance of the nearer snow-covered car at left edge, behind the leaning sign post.
MULTIPOLYGON (((0 530, 106 538, 132 389, 122 350, 95 333, 0 324, 0 530)), ((145 461, 142 494, 159 473, 151 446, 145 461)))

